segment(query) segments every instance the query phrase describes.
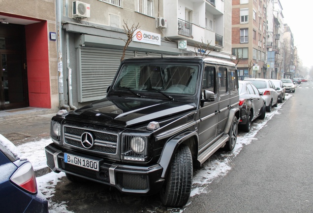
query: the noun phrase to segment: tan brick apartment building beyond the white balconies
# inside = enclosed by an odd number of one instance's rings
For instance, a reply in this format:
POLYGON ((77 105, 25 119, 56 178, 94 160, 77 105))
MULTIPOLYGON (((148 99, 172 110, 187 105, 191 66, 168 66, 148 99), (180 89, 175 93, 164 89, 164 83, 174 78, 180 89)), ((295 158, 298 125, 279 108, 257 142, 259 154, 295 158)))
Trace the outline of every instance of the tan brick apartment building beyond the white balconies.
POLYGON ((267 0, 232 0, 232 54, 240 76, 269 78, 267 0))

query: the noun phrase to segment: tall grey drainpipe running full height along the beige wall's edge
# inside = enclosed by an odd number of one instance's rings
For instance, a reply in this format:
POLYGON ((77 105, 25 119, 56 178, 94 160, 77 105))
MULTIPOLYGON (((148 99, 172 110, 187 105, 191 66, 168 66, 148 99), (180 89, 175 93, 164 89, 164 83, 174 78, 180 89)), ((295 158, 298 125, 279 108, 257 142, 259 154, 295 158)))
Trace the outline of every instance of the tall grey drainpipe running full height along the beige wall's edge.
POLYGON ((57 0, 57 27, 58 27, 58 81, 59 81, 59 101, 60 108, 66 108, 67 111, 70 110, 68 105, 64 102, 64 89, 63 89, 63 63, 62 63, 62 0, 57 0))

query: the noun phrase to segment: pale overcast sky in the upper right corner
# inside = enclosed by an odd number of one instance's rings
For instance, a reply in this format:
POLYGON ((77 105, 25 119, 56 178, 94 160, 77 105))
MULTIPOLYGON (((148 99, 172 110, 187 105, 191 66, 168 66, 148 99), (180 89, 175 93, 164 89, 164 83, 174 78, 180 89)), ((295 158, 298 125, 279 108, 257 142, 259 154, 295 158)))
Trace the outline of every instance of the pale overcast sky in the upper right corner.
POLYGON ((304 66, 313 66, 313 27, 312 0, 280 0, 284 24, 290 27, 294 45, 298 49, 298 56, 304 66))

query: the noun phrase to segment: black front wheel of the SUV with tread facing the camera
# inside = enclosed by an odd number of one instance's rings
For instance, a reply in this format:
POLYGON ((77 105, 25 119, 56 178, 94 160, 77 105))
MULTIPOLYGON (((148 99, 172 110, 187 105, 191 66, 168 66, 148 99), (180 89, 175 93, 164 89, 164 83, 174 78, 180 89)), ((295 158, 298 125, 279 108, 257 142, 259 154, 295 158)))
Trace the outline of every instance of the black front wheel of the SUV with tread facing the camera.
POLYGON ((192 156, 187 145, 181 145, 166 176, 160 199, 164 206, 182 207, 188 202, 192 186, 192 156))

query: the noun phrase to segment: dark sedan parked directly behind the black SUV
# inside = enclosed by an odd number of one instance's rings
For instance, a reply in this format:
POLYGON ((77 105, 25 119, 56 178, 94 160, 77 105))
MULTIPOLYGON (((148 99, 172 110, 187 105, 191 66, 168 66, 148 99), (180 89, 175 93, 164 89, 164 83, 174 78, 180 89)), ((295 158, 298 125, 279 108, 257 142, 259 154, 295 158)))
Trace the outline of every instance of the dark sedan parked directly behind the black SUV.
POLYGON ((265 101, 260 92, 249 81, 239 81, 240 127, 249 132, 252 121, 265 118, 265 101))

